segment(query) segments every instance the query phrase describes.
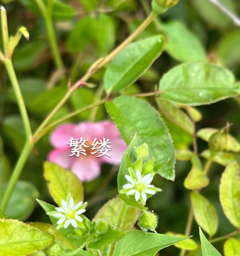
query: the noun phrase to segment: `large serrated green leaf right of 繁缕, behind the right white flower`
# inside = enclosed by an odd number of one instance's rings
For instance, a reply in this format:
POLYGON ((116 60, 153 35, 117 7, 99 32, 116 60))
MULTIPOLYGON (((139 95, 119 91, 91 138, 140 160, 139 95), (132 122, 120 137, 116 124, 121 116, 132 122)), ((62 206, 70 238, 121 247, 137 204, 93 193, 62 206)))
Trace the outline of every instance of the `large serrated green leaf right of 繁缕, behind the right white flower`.
POLYGON ((168 128, 159 113, 147 102, 127 96, 106 102, 106 108, 126 143, 130 144, 136 134, 140 144, 147 143, 156 166, 166 163, 156 172, 166 179, 174 180, 174 148, 168 128))

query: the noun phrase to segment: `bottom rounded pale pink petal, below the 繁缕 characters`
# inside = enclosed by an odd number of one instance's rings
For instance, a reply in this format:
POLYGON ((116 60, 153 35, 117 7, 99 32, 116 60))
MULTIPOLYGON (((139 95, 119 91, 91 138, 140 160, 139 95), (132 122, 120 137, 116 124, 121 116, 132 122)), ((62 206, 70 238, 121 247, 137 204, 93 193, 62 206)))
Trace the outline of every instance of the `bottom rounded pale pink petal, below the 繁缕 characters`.
POLYGON ((74 160, 72 172, 82 181, 96 179, 100 175, 100 162, 95 157, 80 157, 74 160))

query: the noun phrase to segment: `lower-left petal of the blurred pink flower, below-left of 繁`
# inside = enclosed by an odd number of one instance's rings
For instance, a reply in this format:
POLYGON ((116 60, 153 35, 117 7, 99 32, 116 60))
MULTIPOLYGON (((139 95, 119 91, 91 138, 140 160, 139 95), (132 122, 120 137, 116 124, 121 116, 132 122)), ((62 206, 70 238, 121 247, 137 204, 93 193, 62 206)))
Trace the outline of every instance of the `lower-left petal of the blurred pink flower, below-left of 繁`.
POLYGON ((62 166, 63 168, 69 168, 72 164, 72 158, 68 157, 69 154, 70 149, 55 149, 50 151, 48 154, 48 160, 62 166))

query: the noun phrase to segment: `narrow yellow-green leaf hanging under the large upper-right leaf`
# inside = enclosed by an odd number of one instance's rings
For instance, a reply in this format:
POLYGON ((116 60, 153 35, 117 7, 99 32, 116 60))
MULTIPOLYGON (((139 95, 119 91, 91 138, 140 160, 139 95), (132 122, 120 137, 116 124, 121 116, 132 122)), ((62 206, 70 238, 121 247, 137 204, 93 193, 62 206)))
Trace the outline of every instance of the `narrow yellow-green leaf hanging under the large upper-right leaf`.
POLYGON ((193 134, 194 126, 192 120, 180 110, 177 104, 161 98, 158 98, 156 102, 163 115, 165 115, 171 122, 180 126, 180 128, 184 129, 186 132, 193 134))

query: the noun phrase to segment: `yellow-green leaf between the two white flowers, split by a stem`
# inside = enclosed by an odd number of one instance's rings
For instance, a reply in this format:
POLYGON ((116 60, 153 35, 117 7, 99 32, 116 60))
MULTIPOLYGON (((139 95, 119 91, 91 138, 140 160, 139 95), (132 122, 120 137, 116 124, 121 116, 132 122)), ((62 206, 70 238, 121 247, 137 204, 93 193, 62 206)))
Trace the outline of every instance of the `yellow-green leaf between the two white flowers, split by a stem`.
MULTIPOLYGON (((109 200, 94 217, 94 221, 98 219, 105 219, 109 225, 115 226, 117 223, 118 214, 124 202, 120 198, 113 198, 109 200)), ((121 230, 130 230, 136 223, 140 210, 136 207, 128 206, 126 214, 123 218, 121 230)))

